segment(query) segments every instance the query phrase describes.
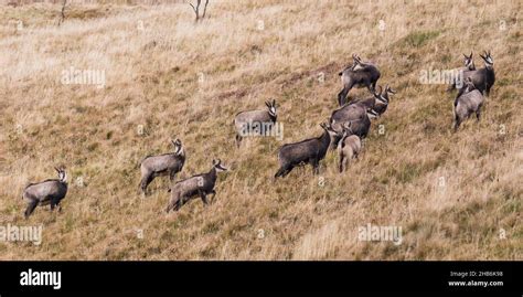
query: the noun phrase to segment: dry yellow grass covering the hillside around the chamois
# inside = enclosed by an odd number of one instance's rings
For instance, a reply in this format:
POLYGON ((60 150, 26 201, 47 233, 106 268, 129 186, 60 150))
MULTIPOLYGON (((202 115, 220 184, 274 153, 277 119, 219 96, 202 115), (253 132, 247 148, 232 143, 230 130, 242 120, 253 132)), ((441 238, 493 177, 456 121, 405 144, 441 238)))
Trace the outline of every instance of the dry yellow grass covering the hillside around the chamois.
POLYGON ((212 1, 198 25, 181 4, 73 6, 60 28, 57 6, 0 8, 0 225, 44 226, 40 246, 0 243, 0 258, 522 259, 521 1, 407 2, 212 1), (492 51, 497 83, 481 121, 452 134, 455 94, 418 76, 471 50, 477 66, 492 51), (278 146, 321 132, 352 53, 398 92, 360 160, 339 174, 330 152, 319 177, 275 182, 278 146), (105 71, 106 87, 62 84, 72 66, 105 71), (234 115, 268 98, 284 141, 237 150, 234 115), (137 165, 174 136, 179 178, 212 158, 231 171, 214 204, 167 215, 167 180, 141 199, 137 165), (63 212, 25 221, 24 185, 56 165, 70 173, 63 212), (403 243, 359 242, 367 223, 402 226, 403 243))

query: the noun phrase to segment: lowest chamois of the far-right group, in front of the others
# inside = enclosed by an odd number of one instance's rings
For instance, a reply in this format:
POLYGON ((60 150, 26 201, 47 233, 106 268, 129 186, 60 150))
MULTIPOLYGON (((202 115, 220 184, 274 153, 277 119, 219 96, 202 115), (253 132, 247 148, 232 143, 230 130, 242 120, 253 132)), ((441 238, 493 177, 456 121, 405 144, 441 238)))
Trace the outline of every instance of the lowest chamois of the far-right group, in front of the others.
POLYGON ((480 119, 481 106, 483 105, 484 97, 479 92, 470 77, 465 82, 465 87, 460 92, 461 94, 455 100, 455 123, 453 128, 458 130, 459 125, 467 119, 472 113, 476 113, 476 118, 480 119))

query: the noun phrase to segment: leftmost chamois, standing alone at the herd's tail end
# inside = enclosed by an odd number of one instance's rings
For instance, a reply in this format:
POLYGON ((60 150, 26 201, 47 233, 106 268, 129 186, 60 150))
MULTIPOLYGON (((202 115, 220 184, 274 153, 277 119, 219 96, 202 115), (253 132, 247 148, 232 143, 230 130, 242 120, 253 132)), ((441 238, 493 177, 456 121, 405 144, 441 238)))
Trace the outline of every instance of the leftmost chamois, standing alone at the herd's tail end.
POLYGON ((28 219, 38 205, 51 205, 51 211, 58 206, 60 202, 67 194, 67 173, 63 168, 54 168, 58 173, 58 179, 49 179, 39 183, 31 183, 23 190, 22 199, 28 201, 25 219, 28 219))

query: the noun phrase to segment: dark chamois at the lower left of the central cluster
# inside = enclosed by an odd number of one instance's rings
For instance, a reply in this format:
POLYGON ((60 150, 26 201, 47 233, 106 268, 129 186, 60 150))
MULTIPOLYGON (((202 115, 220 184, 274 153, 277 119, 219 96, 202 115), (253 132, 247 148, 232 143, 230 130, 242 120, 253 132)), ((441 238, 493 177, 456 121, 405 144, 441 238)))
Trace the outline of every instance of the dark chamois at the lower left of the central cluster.
POLYGON ((275 174, 278 177, 287 176, 295 167, 310 163, 312 173, 319 173, 320 161, 325 157, 331 142, 331 136, 335 134, 330 124, 320 124, 323 134, 317 138, 310 138, 300 142, 287 144, 280 147, 278 151, 278 161, 280 168, 275 174))

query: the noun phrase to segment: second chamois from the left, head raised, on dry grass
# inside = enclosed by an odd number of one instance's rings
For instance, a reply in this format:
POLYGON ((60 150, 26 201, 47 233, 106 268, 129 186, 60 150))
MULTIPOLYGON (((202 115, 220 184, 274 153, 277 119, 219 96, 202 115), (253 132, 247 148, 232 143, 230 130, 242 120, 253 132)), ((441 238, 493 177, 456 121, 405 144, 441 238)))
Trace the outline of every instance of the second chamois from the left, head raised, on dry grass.
POLYGON ((170 181, 174 180, 178 172, 182 171, 185 163, 185 152, 183 150, 182 141, 180 139, 171 140, 174 147, 174 152, 164 153, 160 156, 148 156, 140 165, 141 182, 140 189, 146 194, 147 185, 152 180, 160 176, 169 176, 170 181))

